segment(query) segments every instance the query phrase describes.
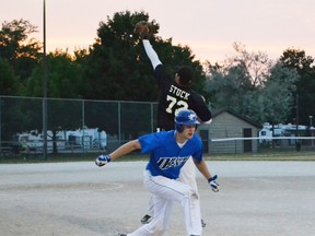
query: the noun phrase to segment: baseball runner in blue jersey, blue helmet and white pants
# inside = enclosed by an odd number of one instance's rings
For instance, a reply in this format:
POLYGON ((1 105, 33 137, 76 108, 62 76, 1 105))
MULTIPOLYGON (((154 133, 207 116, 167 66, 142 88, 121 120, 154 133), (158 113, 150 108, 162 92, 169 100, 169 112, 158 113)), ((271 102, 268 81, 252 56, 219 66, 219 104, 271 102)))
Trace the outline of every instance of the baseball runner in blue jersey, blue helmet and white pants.
POLYGON ((200 206, 192 201, 194 198, 198 198, 198 193, 190 186, 176 180, 180 168, 192 157, 212 190, 219 191, 217 175, 210 175, 202 160, 202 142, 195 134, 198 123, 192 110, 179 110, 175 117, 175 130, 142 135, 121 145, 109 155, 101 155, 96 158, 95 164, 104 166, 135 150, 141 150, 141 154, 150 154, 143 184, 153 194, 152 221, 130 234, 119 234, 119 236, 162 236, 168 226, 174 202, 179 202, 184 208, 187 235, 201 236, 200 206))

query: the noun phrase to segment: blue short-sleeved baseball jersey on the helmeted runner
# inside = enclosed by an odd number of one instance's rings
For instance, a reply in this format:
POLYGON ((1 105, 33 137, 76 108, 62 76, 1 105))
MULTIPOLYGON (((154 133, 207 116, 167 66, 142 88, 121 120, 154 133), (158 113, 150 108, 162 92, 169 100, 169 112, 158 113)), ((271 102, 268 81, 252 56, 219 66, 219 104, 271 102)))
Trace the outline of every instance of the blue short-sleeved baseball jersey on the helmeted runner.
POLYGON ((147 169, 152 176, 176 179, 186 161, 192 156, 202 161, 202 142, 197 134, 187 140, 183 148, 175 140, 175 130, 155 132, 139 138, 141 154, 150 153, 147 169))

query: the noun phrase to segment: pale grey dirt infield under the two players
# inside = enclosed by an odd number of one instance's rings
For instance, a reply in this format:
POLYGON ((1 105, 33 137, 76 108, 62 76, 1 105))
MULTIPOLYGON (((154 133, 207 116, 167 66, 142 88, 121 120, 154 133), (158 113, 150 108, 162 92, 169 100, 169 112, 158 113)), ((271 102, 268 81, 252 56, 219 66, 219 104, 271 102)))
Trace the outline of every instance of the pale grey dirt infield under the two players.
MULTIPOLYGON (((315 162, 207 162, 198 175, 203 236, 310 236, 315 222, 315 162)), ((149 193, 144 162, 0 165, 1 236, 114 236, 140 226, 149 193)), ((186 235, 177 204, 166 236, 186 235)))

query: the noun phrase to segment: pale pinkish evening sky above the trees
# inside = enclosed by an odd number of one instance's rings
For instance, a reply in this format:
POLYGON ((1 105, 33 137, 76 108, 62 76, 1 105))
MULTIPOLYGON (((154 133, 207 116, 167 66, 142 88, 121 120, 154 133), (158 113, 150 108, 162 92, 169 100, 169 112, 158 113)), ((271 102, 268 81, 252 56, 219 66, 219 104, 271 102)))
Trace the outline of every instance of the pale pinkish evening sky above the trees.
MULTIPOLYGON (((44 0, 0 0, 0 22, 28 20, 43 40, 44 0)), ((46 0, 47 50, 86 48, 101 21, 141 11, 160 24, 159 35, 188 45, 196 59, 220 62, 234 42, 278 59, 288 48, 315 58, 315 0, 46 0)))

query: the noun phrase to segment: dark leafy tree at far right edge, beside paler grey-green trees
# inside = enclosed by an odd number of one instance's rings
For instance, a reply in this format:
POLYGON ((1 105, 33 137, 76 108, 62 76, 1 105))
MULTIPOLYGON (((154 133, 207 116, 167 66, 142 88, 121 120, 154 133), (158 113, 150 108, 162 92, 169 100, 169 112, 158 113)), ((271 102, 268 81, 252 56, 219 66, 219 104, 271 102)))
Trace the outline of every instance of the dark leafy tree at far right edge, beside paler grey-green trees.
POLYGON ((296 121, 308 126, 308 116, 315 117, 315 68, 314 59, 306 56, 304 50, 289 48, 280 57, 282 63, 291 69, 295 69, 300 79, 295 81, 296 92, 294 93, 294 107, 291 110, 291 120, 299 114, 296 121), (296 113, 298 109, 298 113, 296 113))

